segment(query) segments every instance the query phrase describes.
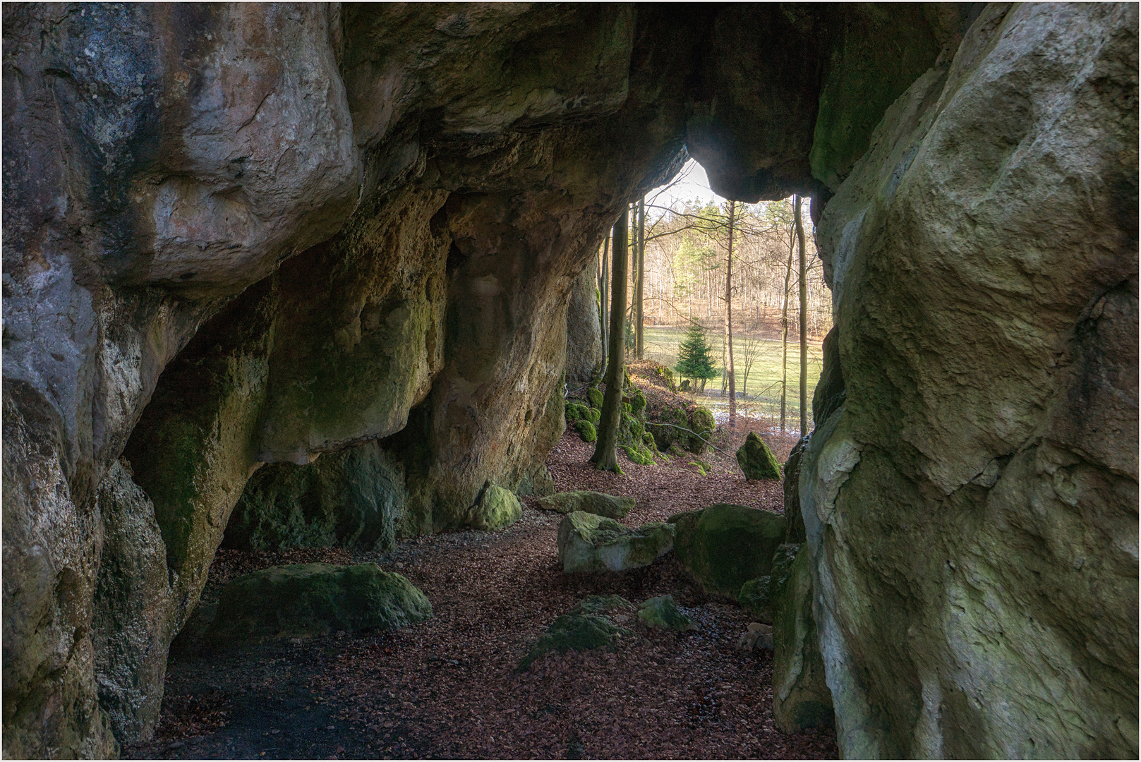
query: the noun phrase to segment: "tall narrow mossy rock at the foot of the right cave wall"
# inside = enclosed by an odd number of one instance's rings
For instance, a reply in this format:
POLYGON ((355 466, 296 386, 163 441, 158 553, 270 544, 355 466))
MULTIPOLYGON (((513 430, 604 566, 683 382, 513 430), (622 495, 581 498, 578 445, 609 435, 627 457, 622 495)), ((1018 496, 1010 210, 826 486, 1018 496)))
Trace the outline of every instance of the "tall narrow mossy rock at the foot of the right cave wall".
POLYGON ((824 681, 824 659, 812 619, 808 545, 800 545, 786 569, 780 583, 771 586, 772 716, 785 732, 833 727, 832 692, 824 681))

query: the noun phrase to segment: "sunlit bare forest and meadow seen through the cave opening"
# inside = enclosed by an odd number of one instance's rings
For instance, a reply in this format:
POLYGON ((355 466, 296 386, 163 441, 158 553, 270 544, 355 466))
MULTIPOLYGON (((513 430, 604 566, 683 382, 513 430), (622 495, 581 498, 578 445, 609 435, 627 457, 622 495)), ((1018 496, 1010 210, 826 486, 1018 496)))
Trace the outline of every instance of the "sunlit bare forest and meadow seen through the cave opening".
MULTIPOLYGON (((658 203, 669 187, 649 194, 644 206, 633 204, 626 281, 626 356, 675 367, 678 346, 687 329, 693 323, 701 325, 706 331, 718 371, 701 394, 702 404, 723 420, 729 412, 729 378, 725 370, 728 365, 726 339, 730 332, 726 330, 726 313, 731 306, 734 407, 750 416, 778 421, 784 391, 787 428, 796 428, 801 310, 794 197, 756 204, 735 202, 730 226, 729 202, 658 203), (645 211, 640 212, 641 209, 645 211), (645 214, 644 220, 639 219, 640 213, 645 214), (728 259, 730 228, 731 273, 728 259), (645 253, 639 257, 641 235, 645 253), (727 275, 730 278, 728 292, 727 275), (786 326, 783 317, 787 318, 786 326)), ((802 203, 800 216, 806 232, 803 313, 808 360, 806 386, 810 400, 820 372, 820 343, 832 327, 832 292, 824 282, 823 264, 816 256, 808 203, 802 203)), ((602 316, 609 301, 607 284, 612 267, 613 252, 607 240, 596 261, 602 316)), ((604 337, 606 322, 604 318, 604 337)), ((811 421, 810 410, 808 421, 811 421)))

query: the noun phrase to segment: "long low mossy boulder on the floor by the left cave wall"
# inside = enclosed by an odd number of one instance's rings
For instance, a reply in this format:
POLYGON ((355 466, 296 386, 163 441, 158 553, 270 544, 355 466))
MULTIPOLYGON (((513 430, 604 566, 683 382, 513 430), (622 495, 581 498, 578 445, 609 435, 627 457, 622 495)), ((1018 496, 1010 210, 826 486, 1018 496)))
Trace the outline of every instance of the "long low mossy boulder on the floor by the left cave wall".
POLYGON ((428 598, 375 564, 275 566, 221 591, 208 637, 216 643, 391 630, 431 616, 428 598))

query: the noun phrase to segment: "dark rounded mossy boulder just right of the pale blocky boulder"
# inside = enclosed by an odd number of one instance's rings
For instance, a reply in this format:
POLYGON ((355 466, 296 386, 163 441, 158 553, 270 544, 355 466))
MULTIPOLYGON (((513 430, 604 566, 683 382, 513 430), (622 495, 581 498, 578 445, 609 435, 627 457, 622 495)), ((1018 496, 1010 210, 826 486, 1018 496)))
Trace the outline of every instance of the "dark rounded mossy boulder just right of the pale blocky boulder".
POLYGON ((746 582, 770 573, 774 551, 785 536, 779 513, 726 503, 682 514, 673 526, 681 565, 706 594, 733 600, 746 582))

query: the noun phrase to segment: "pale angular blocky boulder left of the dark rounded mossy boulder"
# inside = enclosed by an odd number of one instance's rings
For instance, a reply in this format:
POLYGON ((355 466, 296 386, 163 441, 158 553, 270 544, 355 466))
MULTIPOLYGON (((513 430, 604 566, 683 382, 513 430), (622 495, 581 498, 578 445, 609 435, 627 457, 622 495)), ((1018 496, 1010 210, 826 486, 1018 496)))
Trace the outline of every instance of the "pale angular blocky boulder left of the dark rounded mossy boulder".
POLYGON ((575 511, 559 525, 559 564, 575 572, 622 572, 649 566, 673 548, 673 525, 630 529, 614 519, 575 511))

